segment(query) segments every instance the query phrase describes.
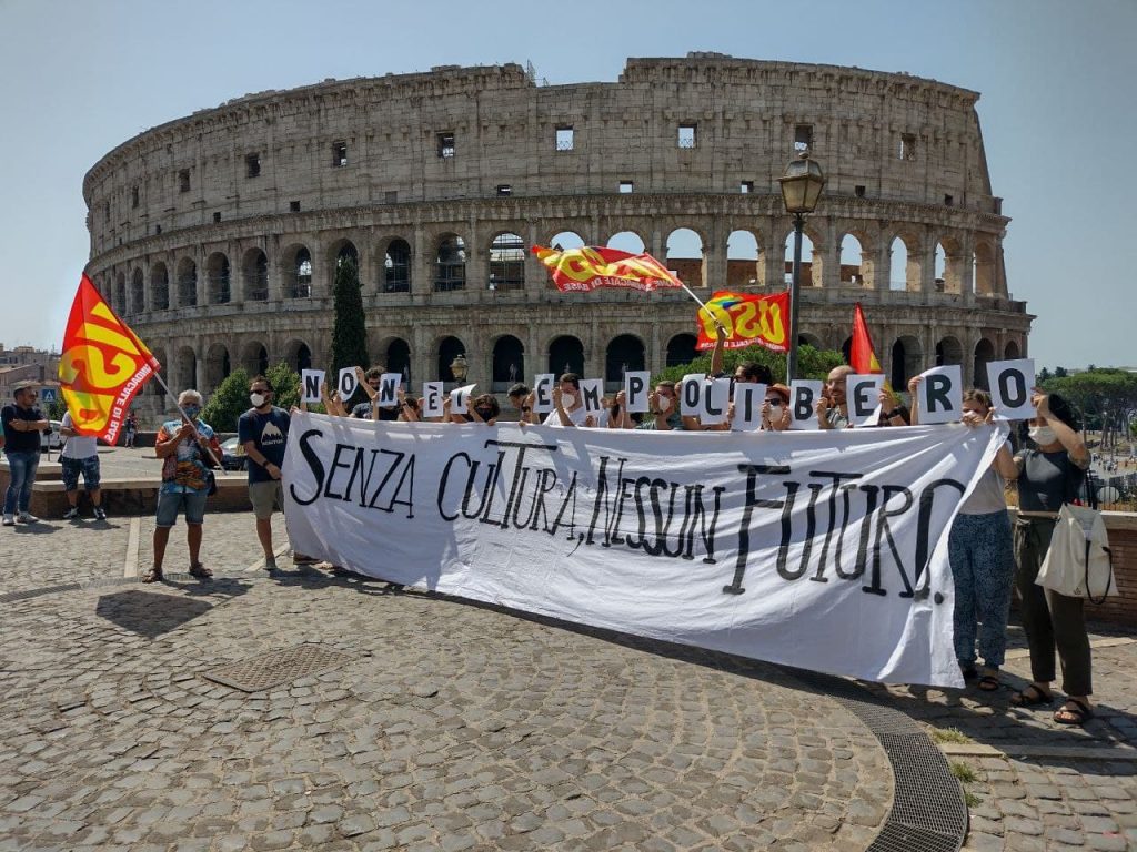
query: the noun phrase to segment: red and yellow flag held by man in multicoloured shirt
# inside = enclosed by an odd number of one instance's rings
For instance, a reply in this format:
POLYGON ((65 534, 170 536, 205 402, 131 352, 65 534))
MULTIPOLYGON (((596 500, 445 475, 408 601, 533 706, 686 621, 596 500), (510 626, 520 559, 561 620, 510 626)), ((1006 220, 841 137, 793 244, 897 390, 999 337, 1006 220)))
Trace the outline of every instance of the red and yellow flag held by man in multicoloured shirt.
POLYGON ((160 369, 84 274, 59 357, 60 391, 75 431, 115 443, 134 394, 160 369))

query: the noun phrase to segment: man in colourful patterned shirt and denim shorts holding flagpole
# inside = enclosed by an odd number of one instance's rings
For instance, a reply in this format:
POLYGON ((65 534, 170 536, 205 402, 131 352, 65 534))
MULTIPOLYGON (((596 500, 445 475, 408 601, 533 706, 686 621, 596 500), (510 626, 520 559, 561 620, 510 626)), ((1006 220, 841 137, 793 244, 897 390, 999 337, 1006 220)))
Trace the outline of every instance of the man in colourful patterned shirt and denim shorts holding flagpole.
POLYGON ((143 583, 163 577, 169 531, 177 523, 179 511, 185 515, 185 542, 190 548, 190 574, 206 579, 213 571, 201 565, 201 525, 205 523, 206 498, 209 495, 209 470, 221 460, 221 444, 209 424, 198 418, 201 394, 182 391, 177 395, 182 409, 180 420, 167 420, 158 429, 155 453, 163 459, 161 488, 153 529, 153 566, 142 576, 143 583))

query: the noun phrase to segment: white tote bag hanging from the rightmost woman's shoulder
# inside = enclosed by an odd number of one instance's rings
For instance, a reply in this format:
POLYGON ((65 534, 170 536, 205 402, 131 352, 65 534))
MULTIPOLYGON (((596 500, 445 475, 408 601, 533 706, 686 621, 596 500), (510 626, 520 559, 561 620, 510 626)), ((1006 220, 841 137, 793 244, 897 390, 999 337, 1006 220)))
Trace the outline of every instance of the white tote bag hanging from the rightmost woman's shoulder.
POLYGON ((1035 580, 1069 598, 1104 603, 1119 594, 1105 521, 1096 509, 1065 503, 1035 580))

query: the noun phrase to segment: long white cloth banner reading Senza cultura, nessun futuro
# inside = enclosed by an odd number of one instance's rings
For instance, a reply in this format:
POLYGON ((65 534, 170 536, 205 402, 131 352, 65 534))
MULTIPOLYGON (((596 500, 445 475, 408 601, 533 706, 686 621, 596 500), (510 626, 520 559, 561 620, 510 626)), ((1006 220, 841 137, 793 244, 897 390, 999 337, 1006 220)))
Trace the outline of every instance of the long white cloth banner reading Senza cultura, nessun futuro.
POLYGON ((1005 425, 637 432, 296 414, 296 550, 597 627, 962 686, 947 531, 1005 425))

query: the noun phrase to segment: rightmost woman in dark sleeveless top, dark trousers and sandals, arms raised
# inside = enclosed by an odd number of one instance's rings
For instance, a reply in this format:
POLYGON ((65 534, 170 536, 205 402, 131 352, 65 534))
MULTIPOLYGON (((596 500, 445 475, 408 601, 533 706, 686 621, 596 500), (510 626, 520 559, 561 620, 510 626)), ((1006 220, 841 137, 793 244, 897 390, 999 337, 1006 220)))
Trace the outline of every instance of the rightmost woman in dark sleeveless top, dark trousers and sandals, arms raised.
POLYGON ((1011 699, 1015 707, 1047 705, 1053 700, 1054 651, 1062 663, 1065 703, 1054 713, 1060 725, 1084 725, 1094 716, 1089 635, 1085 601, 1035 583, 1046 558, 1059 509, 1073 502, 1089 467, 1089 451, 1070 404, 1057 394, 1034 389, 1037 416, 1022 424, 1029 442, 1014 457, 1019 517, 1014 524, 1018 561, 1015 591, 1022 601, 1022 626, 1030 648, 1031 683, 1011 699))

